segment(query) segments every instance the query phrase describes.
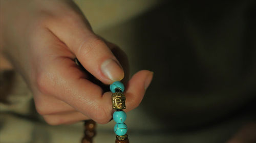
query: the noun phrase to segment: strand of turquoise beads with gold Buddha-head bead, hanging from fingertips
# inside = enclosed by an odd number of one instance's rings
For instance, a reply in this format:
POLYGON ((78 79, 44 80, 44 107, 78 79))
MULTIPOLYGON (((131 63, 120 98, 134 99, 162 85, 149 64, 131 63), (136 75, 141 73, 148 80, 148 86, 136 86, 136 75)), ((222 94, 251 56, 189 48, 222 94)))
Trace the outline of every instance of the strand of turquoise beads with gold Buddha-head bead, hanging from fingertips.
POLYGON ((115 143, 129 143, 127 132, 127 125, 124 123, 126 120, 126 113, 122 110, 125 109, 125 96, 123 94, 124 85, 120 81, 116 81, 110 85, 112 92, 112 108, 116 111, 113 113, 113 119, 116 122, 114 132, 116 133, 115 143))

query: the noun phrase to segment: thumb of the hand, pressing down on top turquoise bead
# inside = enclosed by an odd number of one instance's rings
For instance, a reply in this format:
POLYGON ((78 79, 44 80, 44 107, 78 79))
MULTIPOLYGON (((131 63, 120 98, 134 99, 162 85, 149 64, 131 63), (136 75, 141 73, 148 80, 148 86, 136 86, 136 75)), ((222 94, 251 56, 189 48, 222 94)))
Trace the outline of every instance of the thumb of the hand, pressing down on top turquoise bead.
POLYGON ((105 42, 91 30, 81 15, 66 22, 51 21, 49 29, 75 54, 82 66, 105 84, 120 81, 124 71, 105 42))

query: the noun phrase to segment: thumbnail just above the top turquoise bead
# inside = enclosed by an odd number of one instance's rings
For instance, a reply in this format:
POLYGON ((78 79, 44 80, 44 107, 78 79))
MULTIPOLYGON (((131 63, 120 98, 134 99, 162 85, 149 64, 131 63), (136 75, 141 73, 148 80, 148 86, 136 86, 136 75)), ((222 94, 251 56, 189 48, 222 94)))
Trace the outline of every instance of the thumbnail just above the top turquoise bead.
POLYGON ((123 69, 112 59, 108 59, 101 64, 101 71, 112 81, 120 81, 124 77, 123 69))

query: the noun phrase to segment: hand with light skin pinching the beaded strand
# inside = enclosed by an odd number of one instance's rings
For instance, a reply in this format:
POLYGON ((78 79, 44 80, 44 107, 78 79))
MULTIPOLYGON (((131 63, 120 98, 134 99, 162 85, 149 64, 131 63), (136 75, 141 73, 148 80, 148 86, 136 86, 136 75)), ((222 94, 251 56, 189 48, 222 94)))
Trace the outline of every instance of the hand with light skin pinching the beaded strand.
MULTIPOLYGON (((111 120, 111 92, 103 93, 73 60, 111 84, 124 77, 127 59, 117 46, 94 34, 72 1, 1 1, 1 17, 1 51, 26 80, 47 123, 111 120)), ((152 77, 142 70, 127 82, 125 111, 140 104, 152 77)))

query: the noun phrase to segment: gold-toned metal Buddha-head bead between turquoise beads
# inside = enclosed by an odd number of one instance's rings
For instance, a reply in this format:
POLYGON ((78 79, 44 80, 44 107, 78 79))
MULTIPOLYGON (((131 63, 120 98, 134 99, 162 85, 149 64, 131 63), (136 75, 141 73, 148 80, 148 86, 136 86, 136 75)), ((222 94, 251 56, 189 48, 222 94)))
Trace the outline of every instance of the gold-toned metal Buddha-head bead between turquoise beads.
POLYGON ((115 92, 112 94, 113 109, 125 109, 125 96, 121 92, 115 92))

